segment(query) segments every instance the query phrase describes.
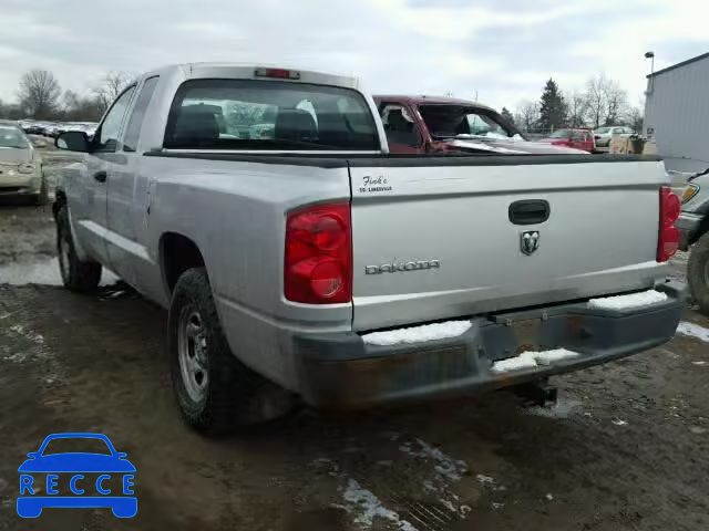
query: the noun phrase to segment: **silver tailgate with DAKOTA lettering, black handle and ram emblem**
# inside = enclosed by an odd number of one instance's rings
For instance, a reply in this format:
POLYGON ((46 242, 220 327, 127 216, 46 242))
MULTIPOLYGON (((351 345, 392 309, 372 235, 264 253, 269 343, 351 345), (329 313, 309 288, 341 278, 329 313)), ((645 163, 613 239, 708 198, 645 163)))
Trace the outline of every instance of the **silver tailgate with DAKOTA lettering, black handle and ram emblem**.
POLYGON ((353 159, 350 178, 358 331, 641 289, 664 274, 667 177, 655 159, 353 159))

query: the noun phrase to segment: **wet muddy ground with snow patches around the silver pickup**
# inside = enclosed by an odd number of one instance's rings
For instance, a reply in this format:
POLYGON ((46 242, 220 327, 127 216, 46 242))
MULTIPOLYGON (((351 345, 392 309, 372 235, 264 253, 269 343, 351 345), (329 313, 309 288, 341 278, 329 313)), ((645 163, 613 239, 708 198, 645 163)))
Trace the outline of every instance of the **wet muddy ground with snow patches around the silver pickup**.
MULTIPOLYGON (((51 285, 53 253, 49 207, 0 205, 0 277, 12 267, 19 284, 0 285, 0 529, 709 529, 709 337, 556 378, 549 410, 496 393, 304 410, 209 439, 177 415, 165 313, 120 287, 80 296, 51 285), (103 433, 127 452, 134 519, 17 516, 18 466, 58 431, 103 433)), ((709 329, 691 310, 685 319, 709 329)))

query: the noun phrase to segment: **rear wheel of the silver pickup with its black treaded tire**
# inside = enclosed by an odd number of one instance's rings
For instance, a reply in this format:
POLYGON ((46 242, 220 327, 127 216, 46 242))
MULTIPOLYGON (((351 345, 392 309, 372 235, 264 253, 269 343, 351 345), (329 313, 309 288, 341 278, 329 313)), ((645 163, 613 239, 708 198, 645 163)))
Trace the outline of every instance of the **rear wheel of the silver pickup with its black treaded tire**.
POLYGON ((281 417, 291 395, 232 353, 204 268, 177 280, 167 322, 167 354, 183 418, 198 431, 224 434, 281 417))

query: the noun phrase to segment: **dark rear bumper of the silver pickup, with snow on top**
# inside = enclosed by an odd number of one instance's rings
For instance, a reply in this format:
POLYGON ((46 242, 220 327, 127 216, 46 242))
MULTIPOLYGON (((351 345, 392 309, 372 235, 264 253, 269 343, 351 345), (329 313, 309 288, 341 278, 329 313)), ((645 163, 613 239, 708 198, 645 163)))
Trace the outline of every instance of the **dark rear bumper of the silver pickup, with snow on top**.
MULTIPOLYGON (((668 299, 643 309, 593 310, 585 302, 473 319, 464 334, 418 344, 373 346, 358 334, 294 339, 299 392, 323 409, 475 394, 568 373, 669 341, 679 324, 684 284, 657 288, 668 299), (521 350, 514 323, 534 323, 534 344, 579 355, 545 366, 495 374, 495 361, 521 350)), ((524 345, 528 345, 525 335, 524 345)), ((536 350, 536 348, 535 348, 536 350)))

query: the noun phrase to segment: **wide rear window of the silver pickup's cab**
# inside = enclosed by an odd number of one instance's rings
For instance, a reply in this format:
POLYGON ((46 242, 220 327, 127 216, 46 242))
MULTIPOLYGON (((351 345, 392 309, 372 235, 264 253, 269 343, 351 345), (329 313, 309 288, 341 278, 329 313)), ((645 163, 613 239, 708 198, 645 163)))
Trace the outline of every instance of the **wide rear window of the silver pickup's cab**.
POLYGON ((193 80, 175 95, 164 146, 181 149, 379 150, 356 91, 306 83, 193 80))

